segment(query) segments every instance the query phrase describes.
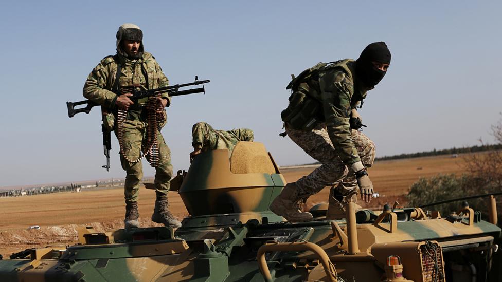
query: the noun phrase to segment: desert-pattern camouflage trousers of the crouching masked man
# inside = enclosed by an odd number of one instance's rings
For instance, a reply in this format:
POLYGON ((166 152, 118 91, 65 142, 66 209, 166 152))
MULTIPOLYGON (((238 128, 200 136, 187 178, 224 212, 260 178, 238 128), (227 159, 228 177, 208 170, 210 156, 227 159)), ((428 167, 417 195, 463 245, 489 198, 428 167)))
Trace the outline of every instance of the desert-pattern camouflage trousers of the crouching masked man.
MULTIPOLYGON (((296 181, 298 194, 303 197, 313 195, 326 186, 332 186, 342 195, 357 188, 354 172, 350 170, 335 152, 328 136, 326 124, 318 124, 311 131, 301 131, 285 127, 288 136, 305 153, 321 163, 313 172, 296 181)), ((352 129, 351 139, 366 167, 371 167, 375 159, 375 144, 361 131, 352 129)))

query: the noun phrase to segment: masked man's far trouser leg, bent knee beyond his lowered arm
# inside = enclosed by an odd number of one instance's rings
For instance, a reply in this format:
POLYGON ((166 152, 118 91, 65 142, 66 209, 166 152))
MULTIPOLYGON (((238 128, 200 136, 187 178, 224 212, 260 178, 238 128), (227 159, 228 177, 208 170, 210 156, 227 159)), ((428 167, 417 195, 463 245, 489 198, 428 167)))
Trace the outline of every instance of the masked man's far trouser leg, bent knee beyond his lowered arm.
MULTIPOLYGON (((375 144, 373 143, 373 141, 371 141, 364 133, 355 129, 351 130, 351 139, 352 142, 354 142, 357 153, 359 153, 359 157, 361 158, 364 166, 373 166, 376 152, 375 144)), ((347 176, 344 178, 342 183, 340 183, 337 187, 334 187, 334 189, 342 195, 347 195, 350 191, 356 189, 357 187, 358 186, 355 179, 355 174, 349 168, 349 173, 347 174, 347 176)))

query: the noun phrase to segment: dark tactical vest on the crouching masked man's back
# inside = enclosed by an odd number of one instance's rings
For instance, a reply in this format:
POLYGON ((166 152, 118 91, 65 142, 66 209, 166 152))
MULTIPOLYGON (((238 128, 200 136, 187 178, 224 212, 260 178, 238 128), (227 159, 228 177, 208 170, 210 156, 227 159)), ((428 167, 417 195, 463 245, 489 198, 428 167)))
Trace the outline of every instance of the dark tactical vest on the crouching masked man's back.
POLYGON ((318 122, 324 122, 321 93, 309 86, 309 81, 317 80, 321 71, 334 68, 342 68, 352 80, 352 72, 347 63, 352 59, 344 59, 330 63, 318 63, 315 66, 302 71, 298 77, 286 86, 291 89, 288 108, 281 112, 281 119, 290 127, 297 130, 312 130, 318 122))

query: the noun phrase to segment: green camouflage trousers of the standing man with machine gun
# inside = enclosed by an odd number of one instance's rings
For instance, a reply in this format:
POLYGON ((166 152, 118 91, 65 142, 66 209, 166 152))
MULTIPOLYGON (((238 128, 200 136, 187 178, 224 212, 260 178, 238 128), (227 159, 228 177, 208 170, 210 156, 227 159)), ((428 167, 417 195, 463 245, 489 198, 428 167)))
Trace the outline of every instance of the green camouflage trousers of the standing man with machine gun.
MULTIPOLYGON (((124 122, 123 150, 124 154, 126 154, 130 160, 139 158, 141 154, 141 145, 146 145, 147 125, 148 123, 141 119, 126 120, 126 122, 124 122)), ((117 130, 115 130, 115 135, 117 135, 117 130)), ((172 176, 171 151, 158 130, 157 140, 159 157, 158 166, 155 167, 155 190, 157 195, 166 195, 169 192, 172 176)), ((147 160, 149 160, 148 156, 147 160)), ((126 203, 136 202, 139 195, 139 184, 143 178, 143 166, 141 161, 131 163, 120 154, 120 163, 124 171, 126 171, 126 184, 124 185, 126 203)))

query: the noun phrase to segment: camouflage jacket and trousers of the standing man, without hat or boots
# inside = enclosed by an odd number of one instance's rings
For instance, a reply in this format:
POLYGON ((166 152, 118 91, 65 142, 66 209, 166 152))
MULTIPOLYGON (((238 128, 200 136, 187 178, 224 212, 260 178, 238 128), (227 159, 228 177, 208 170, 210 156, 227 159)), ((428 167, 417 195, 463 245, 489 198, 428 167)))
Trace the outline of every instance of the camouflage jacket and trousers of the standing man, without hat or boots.
MULTIPOLYGON (((106 108, 113 108, 117 95, 112 92, 115 84, 117 63, 121 65, 121 74, 118 86, 140 85, 147 89, 167 86, 168 79, 160 69, 157 61, 150 53, 144 52, 138 60, 129 60, 121 54, 113 57, 106 57, 89 74, 84 86, 84 97, 92 100, 106 108), (145 75, 146 73, 146 75, 145 75), (147 84, 148 83, 148 84, 147 84)), ((168 99, 167 93, 163 98, 168 99)), ((146 142, 147 112, 145 105, 148 98, 139 99, 134 102, 128 110, 127 122, 124 123, 124 153, 129 159, 139 158, 141 144, 146 142)), ((117 134, 117 130, 115 130, 117 134)), ((164 138, 158 135, 159 145, 159 165, 155 168, 155 189, 160 194, 167 194, 169 191, 169 180, 172 176, 171 152, 164 138)), ((136 202, 138 200, 139 184, 143 177, 141 161, 130 163, 120 155, 122 168, 126 171, 125 198, 126 202, 136 202)))

